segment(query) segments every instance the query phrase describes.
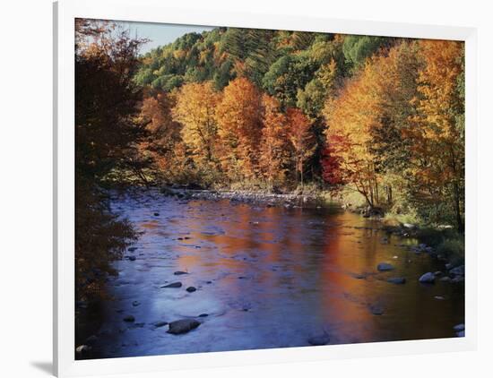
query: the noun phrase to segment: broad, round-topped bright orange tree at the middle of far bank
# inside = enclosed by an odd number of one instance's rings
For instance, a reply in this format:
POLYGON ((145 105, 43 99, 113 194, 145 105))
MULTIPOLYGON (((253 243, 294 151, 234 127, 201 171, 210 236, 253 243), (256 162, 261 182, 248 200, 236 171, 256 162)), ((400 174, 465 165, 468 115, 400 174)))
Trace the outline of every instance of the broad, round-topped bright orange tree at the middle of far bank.
POLYGON ((216 108, 221 138, 221 161, 230 177, 255 178, 262 135, 262 96, 241 77, 224 88, 216 108))

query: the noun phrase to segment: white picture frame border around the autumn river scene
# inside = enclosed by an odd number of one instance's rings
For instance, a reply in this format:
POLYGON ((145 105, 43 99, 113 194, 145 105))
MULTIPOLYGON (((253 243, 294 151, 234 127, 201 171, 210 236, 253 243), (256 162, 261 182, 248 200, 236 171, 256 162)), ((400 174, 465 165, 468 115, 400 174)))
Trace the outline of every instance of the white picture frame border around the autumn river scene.
POLYGON ((170 8, 160 0, 61 0, 54 4, 54 368, 60 377, 156 372, 180 368, 315 361, 350 357, 473 350, 477 345, 477 114, 475 29, 393 22, 218 13, 170 8), (467 333, 457 339, 423 339, 325 347, 278 348, 156 357, 74 359, 74 19, 146 21, 271 30, 305 30, 454 39, 466 51, 466 275, 467 333))

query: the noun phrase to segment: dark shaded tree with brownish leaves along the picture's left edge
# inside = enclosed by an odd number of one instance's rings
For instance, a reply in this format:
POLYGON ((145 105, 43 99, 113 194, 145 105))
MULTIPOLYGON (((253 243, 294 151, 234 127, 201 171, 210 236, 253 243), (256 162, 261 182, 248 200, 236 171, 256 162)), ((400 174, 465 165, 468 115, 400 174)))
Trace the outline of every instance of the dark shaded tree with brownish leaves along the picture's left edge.
POLYGON ((104 188, 139 180, 148 163, 137 148, 146 131, 133 80, 143 42, 110 22, 75 22, 76 300, 104 296, 106 276, 117 274, 111 262, 135 236, 111 212, 104 188))

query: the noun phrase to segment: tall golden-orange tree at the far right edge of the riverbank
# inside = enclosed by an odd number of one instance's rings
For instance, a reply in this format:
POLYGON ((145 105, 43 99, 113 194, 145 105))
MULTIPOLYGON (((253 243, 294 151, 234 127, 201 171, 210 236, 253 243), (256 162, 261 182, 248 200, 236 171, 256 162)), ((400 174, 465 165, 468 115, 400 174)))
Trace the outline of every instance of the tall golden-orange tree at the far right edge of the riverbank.
POLYGON ((464 228, 464 46, 419 41, 425 66, 419 71, 417 115, 404 130, 412 141, 412 198, 428 217, 454 214, 464 228), (441 214, 440 214, 441 213, 441 214))

